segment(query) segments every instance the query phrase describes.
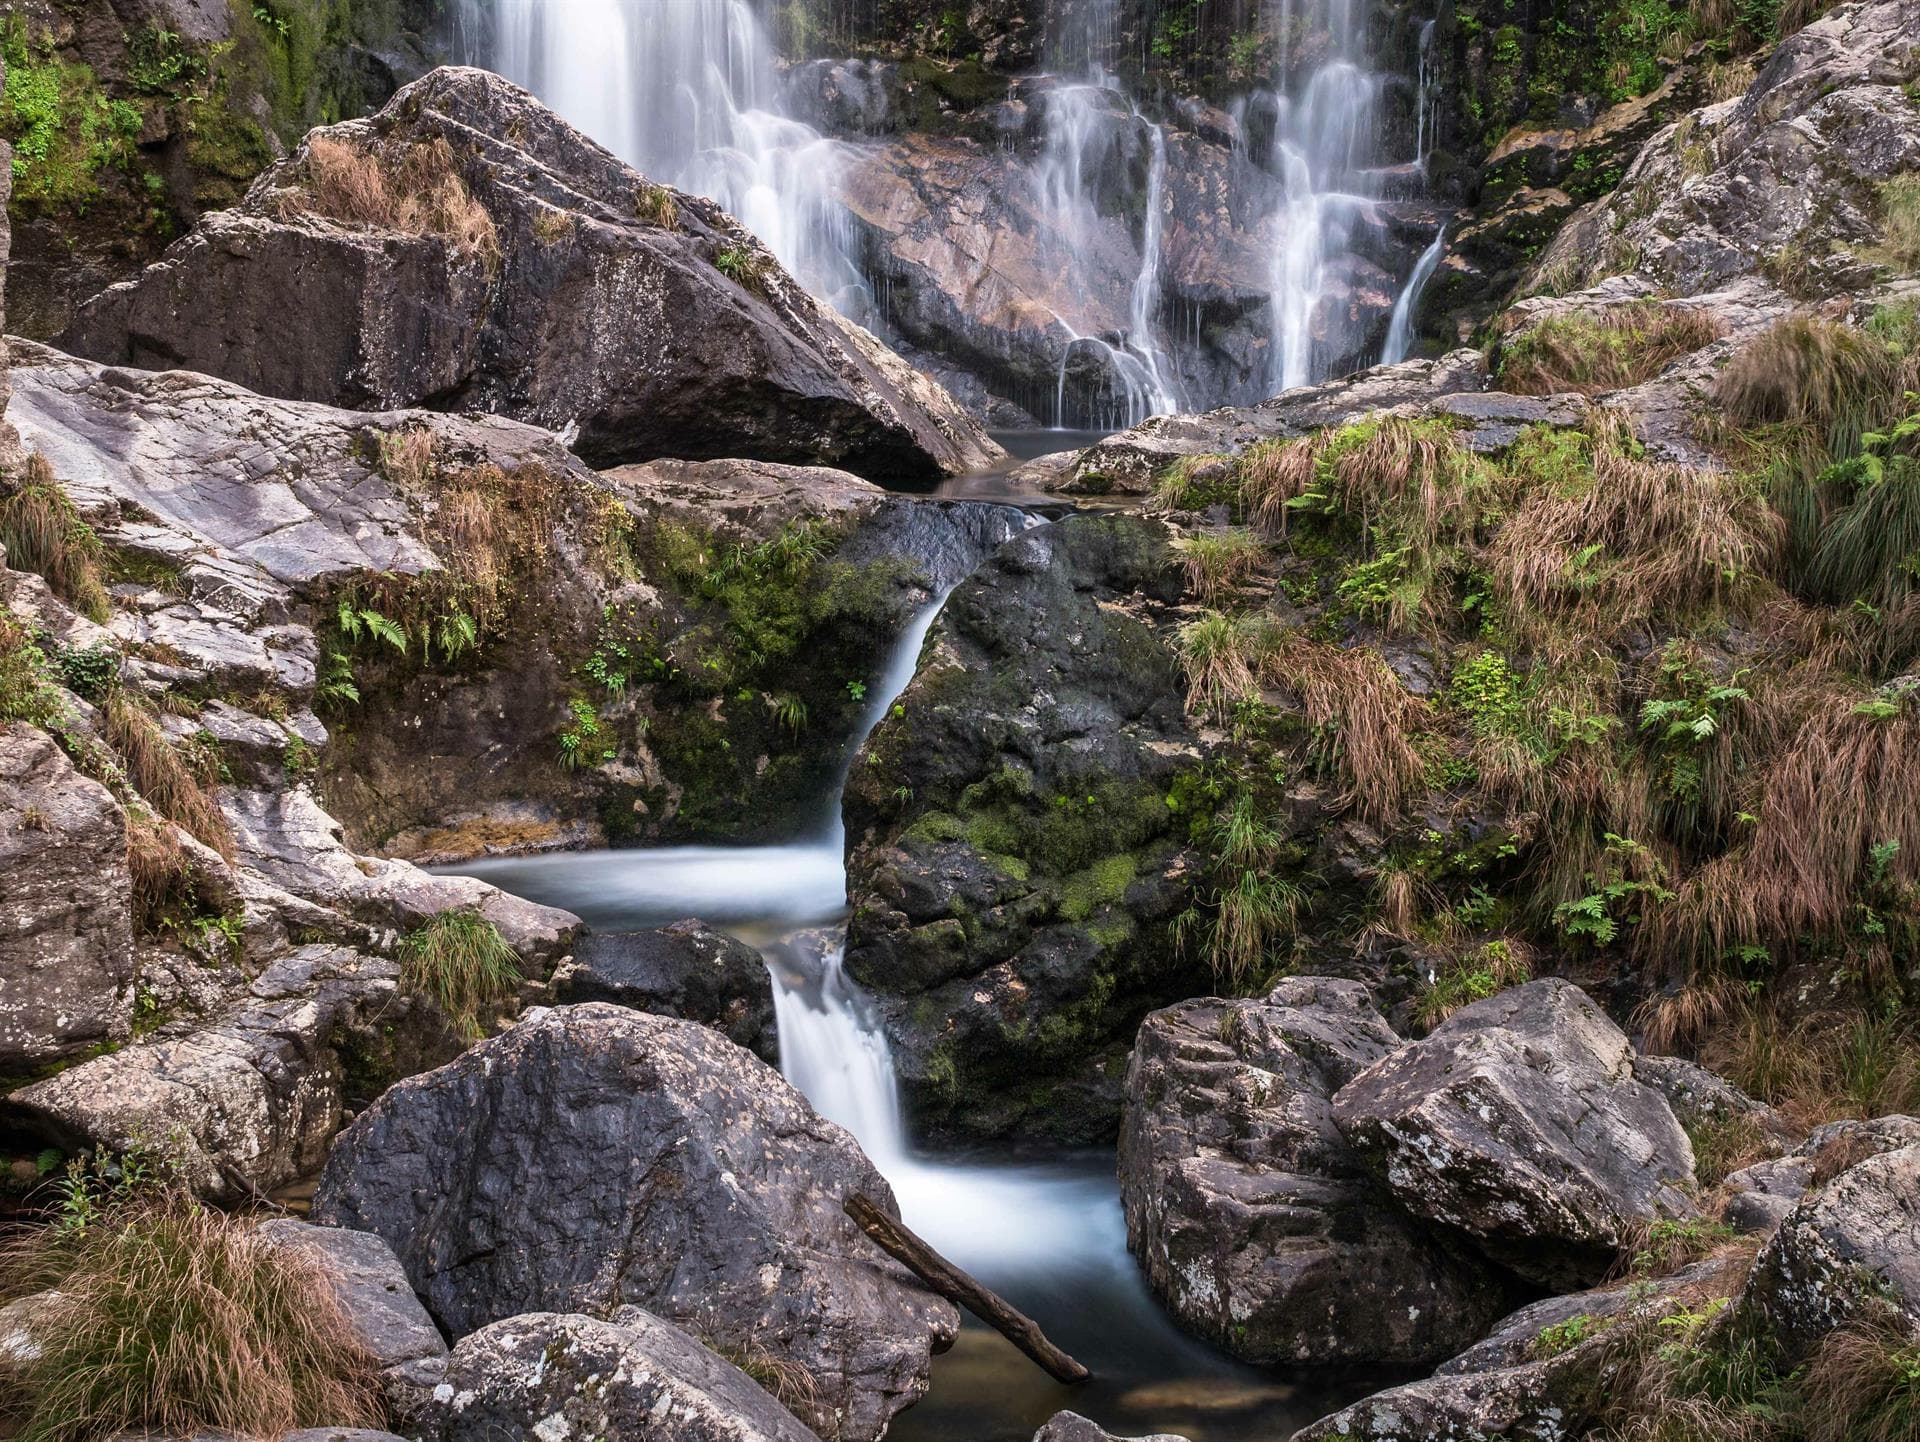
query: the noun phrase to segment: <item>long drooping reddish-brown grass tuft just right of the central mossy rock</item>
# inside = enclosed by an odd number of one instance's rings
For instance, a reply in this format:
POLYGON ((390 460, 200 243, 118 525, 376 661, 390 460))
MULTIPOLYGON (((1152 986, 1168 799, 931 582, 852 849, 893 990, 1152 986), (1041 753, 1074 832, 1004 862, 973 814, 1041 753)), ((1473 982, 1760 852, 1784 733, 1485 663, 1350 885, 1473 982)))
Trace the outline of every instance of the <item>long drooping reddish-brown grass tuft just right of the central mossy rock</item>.
POLYGON ((1425 791, 1427 768, 1413 749, 1425 709, 1379 655, 1296 634, 1265 657, 1265 674, 1300 697, 1321 764, 1346 783, 1342 805, 1367 824, 1392 826, 1425 791))

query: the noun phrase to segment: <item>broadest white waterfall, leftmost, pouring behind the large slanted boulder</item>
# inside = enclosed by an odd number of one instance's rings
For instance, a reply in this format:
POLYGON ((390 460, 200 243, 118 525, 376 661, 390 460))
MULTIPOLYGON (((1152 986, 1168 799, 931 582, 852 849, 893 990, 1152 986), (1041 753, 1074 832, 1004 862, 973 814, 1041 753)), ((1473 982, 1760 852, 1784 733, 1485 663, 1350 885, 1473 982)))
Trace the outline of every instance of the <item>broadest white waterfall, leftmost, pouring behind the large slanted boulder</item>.
POLYGON ((655 180, 718 202, 801 284, 872 311, 847 148, 793 119, 749 0, 455 0, 463 58, 526 86, 655 180))

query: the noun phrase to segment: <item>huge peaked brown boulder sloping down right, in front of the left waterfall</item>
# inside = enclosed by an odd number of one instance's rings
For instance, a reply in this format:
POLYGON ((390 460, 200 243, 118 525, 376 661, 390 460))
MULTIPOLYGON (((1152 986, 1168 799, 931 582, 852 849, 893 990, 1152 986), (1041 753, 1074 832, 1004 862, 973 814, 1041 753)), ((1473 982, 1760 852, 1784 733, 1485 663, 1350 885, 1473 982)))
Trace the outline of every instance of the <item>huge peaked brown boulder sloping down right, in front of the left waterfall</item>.
POLYGON ((755 455, 931 480, 998 455, 718 205, 476 69, 309 134, 58 344, 292 399, 497 411, 597 465, 755 455))

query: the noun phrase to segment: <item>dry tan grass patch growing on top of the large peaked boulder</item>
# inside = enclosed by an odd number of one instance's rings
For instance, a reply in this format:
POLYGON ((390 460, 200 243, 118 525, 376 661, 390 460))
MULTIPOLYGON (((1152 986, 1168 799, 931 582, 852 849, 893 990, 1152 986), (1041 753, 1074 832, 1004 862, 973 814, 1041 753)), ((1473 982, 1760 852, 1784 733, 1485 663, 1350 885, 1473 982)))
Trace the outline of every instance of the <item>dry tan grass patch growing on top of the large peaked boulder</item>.
POLYGON ((307 142, 303 179, 284 192, 282 209, 323 215, 413 236, 438 236, 455 255, 499 269, 499 230, 486 205, 461 179, 453 146, 444 138, 374 154, 336 136, 307 142))

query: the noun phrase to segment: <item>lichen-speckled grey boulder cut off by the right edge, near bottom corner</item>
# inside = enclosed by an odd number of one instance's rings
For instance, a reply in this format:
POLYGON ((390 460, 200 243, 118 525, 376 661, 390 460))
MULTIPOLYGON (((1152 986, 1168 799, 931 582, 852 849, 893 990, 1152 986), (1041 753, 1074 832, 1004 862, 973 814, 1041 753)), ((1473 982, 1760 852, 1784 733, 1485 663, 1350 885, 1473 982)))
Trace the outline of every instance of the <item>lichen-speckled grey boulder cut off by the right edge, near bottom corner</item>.
POLYGON ((1788 1365, 1851 1323, 1891 1315, 1920 1334, 1920 1146, 1868 1156, 1805 1196, 1755 1258, 1736 1313, 1788 1365))

